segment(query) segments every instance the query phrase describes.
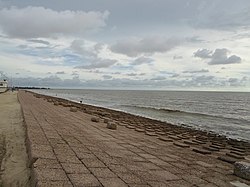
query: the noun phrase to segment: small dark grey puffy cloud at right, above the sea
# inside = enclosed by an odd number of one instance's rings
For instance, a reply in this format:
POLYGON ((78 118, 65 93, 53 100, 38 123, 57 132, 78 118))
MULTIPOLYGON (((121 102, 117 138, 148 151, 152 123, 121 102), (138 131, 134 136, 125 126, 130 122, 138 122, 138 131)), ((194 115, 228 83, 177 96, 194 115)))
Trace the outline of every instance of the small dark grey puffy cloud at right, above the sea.
POLYGON ((236 55, 228 56, 228 49, 216 49, 214 52, 208 49, 199 49, 194 52, 195 57, 202 59, 210 59, 207 63, 209 65, 221 65, 221 64, 239 64, 241 58, 236 55))

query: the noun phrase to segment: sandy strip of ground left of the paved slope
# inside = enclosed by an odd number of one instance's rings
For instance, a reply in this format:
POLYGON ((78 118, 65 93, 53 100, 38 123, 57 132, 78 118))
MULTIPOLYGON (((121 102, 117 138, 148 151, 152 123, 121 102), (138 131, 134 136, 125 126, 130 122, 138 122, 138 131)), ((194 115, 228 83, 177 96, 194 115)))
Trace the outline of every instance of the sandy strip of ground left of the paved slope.
POLYGON ((0 186, 29 186, 25 138, 17 92, 0 94, 0 186))

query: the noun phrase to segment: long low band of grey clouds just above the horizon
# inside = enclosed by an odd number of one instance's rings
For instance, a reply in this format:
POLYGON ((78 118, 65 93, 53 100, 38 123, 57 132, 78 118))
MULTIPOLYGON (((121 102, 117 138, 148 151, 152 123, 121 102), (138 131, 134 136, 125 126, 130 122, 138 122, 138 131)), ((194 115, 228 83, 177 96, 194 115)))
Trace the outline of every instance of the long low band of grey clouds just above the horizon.
POLYGON ((40 87, 78 87, 78 88, 134 88, 134 89, 155 89, 155 88, 188 88, 191 87, 223 87, 223 86, 246 86, 250 84, 250 79, 243 77, 242 79, 229 78, 220 79, 213 76, 194 76, 191 79, 175 80, 175 79, 115 79, 111 77, 103 77, 103 80, 80 80, 79 77, 72 79, 61 79, 57 76, 49 76, 45 78, 35 77, 16 77, 13 78, 14 86, 40 86, 40 87), (107 79, 105 79, 107 78, 107 79), (160 81, 159 81, 160 80, 160 81))

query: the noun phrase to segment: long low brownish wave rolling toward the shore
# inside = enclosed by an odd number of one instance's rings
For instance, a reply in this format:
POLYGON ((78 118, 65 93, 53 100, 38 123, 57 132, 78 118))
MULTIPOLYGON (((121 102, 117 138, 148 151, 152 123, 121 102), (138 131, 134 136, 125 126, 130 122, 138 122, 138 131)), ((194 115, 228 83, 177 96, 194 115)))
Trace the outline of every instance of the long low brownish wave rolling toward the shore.
POLYGON ((235 120, 238 123, 250 123, 250 121, 246 119, 239 119, 239 118, 230 118, 221 115, 213 115, 207 113, 197 113, 197 112, 190 112, 190 111, 183 111, 183 110, 176 110, 176 109, 168 109, 168 108, 156 108, 156 107, 149 107, 149 106, 137 106, 137 105, 120 105, 121 107, 128 107, 128 108, 135 108, 135 109, 142 109, 147 111, 153 112, 165 112, 174 115, 189 115, 189 116, 197 116, 197 117, 209 117, 209 118, 223 118, 225 120, 235 120))

